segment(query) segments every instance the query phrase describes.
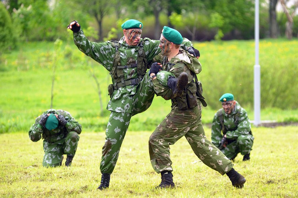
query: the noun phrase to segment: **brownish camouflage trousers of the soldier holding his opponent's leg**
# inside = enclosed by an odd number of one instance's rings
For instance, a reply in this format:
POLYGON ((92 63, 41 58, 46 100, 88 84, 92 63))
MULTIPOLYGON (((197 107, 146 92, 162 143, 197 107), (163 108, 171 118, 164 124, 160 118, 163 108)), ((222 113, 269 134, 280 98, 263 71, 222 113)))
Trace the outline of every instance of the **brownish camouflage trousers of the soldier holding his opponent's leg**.
POLYGON ((183 136, 204 164, 222 175, 232 169, 232 162, 205 136, 199 102, 199 105, 192 109, 172 110, 150 136, 150 161, 157 173, 173 171, 170 145, 183 136))

